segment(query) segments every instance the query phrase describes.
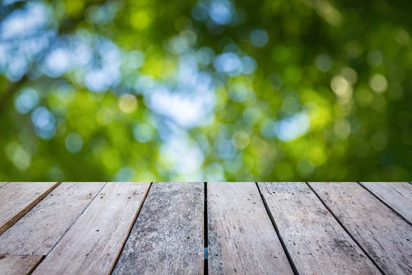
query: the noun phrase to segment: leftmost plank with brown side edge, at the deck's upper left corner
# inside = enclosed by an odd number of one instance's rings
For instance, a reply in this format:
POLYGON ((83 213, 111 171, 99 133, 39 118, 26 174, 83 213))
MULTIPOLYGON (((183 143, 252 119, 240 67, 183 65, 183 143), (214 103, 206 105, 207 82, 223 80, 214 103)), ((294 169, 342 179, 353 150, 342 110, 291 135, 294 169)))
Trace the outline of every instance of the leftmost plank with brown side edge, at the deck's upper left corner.
POLYGON ((0 188, 0 234, 29 212, 59 182, 10 182, 0 188))

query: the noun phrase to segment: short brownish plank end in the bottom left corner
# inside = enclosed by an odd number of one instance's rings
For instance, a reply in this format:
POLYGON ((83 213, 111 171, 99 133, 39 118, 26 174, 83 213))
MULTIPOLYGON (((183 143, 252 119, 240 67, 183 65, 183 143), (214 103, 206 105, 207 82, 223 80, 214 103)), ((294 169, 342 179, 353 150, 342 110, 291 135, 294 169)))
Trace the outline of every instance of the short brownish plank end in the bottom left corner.
POLYGON ((0 275, 25 275, 41 262, 44 256, 0 254, 0 275))

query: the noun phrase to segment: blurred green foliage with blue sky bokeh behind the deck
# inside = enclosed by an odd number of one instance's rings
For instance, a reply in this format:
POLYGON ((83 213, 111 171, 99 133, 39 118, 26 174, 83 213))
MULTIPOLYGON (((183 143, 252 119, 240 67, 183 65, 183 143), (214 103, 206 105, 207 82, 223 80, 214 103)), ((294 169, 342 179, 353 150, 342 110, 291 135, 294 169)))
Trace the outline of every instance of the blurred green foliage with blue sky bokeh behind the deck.
POLYGON ((410 181, 409 1, 3 1, 0 181, 410 181))

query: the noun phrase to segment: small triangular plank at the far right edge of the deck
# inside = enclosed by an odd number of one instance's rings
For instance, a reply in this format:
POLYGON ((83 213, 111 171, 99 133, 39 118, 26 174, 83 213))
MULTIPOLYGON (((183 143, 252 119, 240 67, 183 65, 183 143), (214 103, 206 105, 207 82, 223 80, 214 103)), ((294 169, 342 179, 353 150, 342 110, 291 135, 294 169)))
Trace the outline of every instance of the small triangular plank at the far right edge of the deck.
POLYGON ((412 184, 408 182, 362 182, 361 184, 412 223, 412 184))

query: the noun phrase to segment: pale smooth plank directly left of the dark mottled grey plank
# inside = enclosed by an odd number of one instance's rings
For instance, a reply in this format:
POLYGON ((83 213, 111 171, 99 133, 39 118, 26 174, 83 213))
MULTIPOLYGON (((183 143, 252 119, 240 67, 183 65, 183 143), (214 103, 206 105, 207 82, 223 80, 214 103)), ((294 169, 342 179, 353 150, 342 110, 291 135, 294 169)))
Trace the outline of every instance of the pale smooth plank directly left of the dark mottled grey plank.
POLYGON ((149 183, 109 182, 33 274, 108 274, 149 183))

